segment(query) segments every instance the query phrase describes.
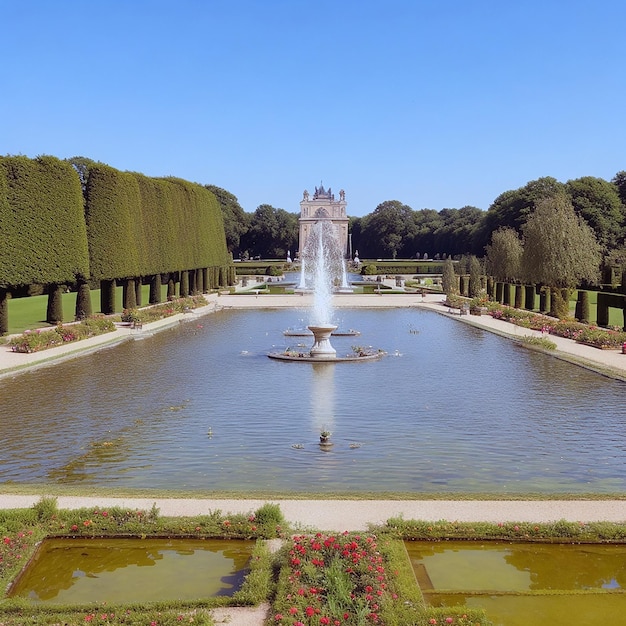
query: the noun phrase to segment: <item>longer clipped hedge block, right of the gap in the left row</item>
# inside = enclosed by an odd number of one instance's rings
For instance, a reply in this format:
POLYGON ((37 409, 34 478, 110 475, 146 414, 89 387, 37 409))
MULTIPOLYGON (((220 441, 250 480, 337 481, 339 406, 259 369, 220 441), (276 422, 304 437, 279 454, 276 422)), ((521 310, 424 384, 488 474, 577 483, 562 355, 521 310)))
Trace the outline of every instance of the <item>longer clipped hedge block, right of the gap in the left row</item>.
POLYGON ((87 233, 100 280, 229 266, 222 212, 205 187, 90 167, 87 233))

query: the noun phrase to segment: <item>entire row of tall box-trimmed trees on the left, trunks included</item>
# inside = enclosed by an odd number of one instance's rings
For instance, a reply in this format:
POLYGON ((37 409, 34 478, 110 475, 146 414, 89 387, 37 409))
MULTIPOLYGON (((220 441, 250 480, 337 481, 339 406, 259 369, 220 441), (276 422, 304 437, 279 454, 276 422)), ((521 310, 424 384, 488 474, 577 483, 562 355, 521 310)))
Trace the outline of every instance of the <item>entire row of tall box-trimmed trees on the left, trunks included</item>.
POLYGON ((142 283, 156 303, 164 280, 179 283, 183 296, 234 280, 222 212, 208 189, 82 157, 0 157, 0 237, 0 334, 8 329, 7 298, 31 285, 45 287, 47 321, 56 323, 68 287, 84 317, 91 288, 101 289, 108 314, 117 284, 133 308, 142 283))

